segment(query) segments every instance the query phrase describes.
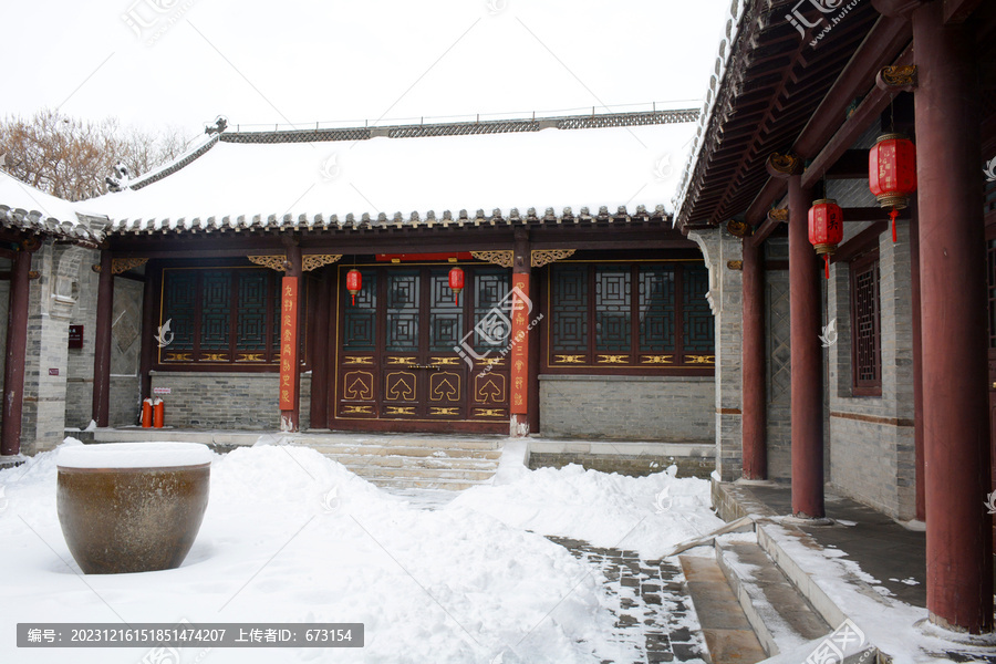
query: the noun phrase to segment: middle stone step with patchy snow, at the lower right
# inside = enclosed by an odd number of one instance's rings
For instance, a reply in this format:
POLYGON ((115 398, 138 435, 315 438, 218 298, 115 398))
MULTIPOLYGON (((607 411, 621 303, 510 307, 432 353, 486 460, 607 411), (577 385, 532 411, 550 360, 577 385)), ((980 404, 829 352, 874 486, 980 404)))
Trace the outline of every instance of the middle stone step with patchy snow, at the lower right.
POLYGON ((769 656, 833 631, 756 542, 717 541, 716 561, 769 656))

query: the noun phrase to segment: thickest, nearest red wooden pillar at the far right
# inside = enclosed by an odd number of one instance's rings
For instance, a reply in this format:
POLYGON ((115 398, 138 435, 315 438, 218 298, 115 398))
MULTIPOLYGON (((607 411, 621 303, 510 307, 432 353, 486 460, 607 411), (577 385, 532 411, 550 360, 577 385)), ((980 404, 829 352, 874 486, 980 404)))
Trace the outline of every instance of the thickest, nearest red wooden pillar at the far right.
POLYGON ((942 626, 993 630, 985 234, 979 91, 971 23, 945 2, 913 12, 927 610, 942 626))

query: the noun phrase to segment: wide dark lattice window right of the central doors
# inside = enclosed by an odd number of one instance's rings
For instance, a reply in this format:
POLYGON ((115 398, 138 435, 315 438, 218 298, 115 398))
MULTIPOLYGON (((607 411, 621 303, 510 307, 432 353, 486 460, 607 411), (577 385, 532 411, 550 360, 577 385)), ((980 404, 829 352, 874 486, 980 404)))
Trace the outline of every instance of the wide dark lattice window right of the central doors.
POLYGON ((547 366, 710 369, 708 283, 708 270, 694 263, 553 266, 547 366))

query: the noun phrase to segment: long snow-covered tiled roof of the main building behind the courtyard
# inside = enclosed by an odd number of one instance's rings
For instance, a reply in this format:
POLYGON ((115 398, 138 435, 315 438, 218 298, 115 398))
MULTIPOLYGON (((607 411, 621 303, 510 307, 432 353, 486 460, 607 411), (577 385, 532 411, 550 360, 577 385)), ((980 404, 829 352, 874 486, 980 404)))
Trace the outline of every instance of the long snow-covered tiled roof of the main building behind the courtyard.
POLYGON ((411 127, 378 127, 361 139, 216 134, 76 209, 110 218, 112 232, 663 218, 694 117, 626 115, 496 133, 427 127, 416 137, 411 127))

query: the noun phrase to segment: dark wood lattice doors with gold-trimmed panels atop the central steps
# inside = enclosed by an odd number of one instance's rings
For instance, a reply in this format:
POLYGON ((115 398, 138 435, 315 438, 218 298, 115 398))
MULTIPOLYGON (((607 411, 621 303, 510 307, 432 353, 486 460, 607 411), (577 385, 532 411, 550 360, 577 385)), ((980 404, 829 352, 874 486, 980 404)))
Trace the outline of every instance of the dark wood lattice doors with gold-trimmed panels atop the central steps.
POLYGON ((507 294, 508 271, 465 272, 470 288, 457 302, 449 266, 361 269, 363 291, 340 309, 336 417, 436 421, 439 430, 453 421, 508 419, 508 360, 471 355, 471 370, 457 351, 461 342, 478 355, 497 350, 483 347, 475 326, 507 294))

